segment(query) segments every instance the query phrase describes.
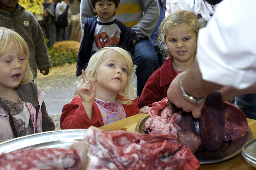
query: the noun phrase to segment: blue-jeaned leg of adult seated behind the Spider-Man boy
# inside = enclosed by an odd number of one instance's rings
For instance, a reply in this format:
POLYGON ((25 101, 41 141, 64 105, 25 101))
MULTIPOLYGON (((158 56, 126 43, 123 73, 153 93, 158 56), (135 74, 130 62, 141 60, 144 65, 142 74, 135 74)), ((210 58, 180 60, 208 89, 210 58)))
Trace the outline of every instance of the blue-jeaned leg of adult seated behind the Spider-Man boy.
POLYGON ((141 38, 135 43, 134 61, 137 66, 137 96, 140 96, 148 78, 159 68, 156 50, 148 38, 141 38))

